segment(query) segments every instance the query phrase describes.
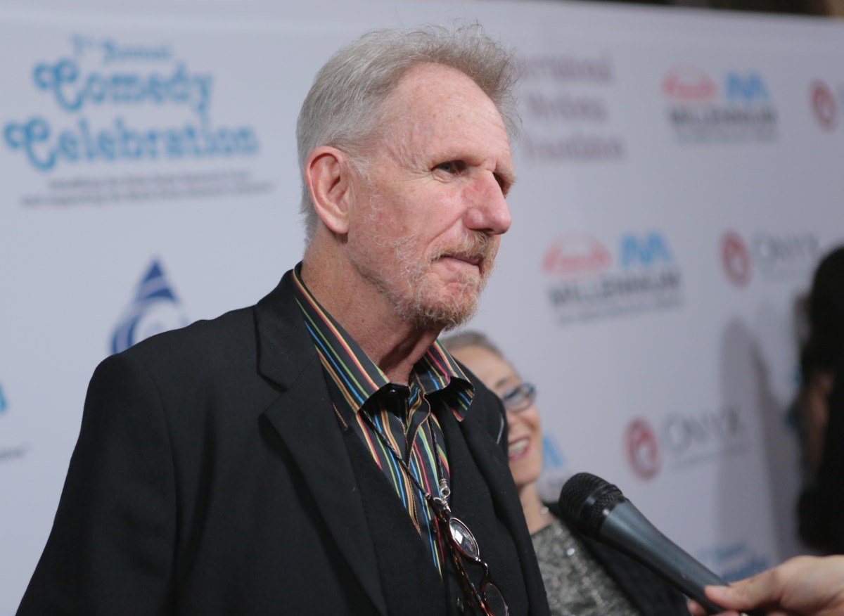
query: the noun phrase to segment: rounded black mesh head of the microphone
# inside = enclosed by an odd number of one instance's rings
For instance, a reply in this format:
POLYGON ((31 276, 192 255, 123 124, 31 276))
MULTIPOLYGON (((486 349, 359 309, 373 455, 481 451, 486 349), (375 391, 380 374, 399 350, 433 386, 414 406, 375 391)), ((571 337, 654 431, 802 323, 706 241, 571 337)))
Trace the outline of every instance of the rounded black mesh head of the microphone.
POLYGON ((621 490, 592 473, 577 473, 560 490, 560 512, 569 526, 596 538, 604 518, 627 500, 621 490))

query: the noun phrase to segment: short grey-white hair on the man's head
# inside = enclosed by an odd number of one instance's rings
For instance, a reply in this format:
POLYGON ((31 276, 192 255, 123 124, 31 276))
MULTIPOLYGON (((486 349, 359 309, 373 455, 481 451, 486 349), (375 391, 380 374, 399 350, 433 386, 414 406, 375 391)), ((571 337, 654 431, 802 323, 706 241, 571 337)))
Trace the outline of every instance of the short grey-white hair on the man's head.
POLYGON ((335 53, 317 73, 296 123, 302 178, 300 213, 305 217, 307 243, 317 229, 317 213, 305 180, 308 156, 314 149, 330 145, 349 154, 359 169, 365 167, 362 149, 379 136, 384 101, 404 73, 422 63, 456 68, 472 78, 495 104, 509 137, 516 138, 513 52, 491 39, 480 24, 453 30, 436 25, 373 30, 361 36, 335 53))

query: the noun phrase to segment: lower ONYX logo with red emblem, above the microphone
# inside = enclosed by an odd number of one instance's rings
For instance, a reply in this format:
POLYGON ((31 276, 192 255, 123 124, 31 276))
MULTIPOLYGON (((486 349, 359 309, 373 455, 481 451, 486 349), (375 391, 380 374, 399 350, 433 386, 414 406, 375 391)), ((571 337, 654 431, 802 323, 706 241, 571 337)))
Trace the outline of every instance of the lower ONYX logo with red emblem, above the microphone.
POLYGON ((624 445, 630 469, 637 477, 652 479, 663 467, 681 470, 702 462, 741 455, 748 430, 736 406, 699 413, 668 413, 656 429, 635 418, 625 430, 624 445))

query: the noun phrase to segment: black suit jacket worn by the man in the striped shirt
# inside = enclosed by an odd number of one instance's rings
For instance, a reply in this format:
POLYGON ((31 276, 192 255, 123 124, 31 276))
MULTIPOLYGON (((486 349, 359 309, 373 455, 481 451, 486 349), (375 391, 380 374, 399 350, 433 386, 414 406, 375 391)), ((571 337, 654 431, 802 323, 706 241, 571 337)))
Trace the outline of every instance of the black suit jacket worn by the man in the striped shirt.
MULTIPOLYGON (((500 403, 470 378, 477 395, 461 430, 517 545, 531 613, 547 613, 495 438, 500 403)), ((470 487, 461 498, 472 498, 470 487)), ((386 611, 289 273, 255 306, 100 364, 20 614, 386 611)))

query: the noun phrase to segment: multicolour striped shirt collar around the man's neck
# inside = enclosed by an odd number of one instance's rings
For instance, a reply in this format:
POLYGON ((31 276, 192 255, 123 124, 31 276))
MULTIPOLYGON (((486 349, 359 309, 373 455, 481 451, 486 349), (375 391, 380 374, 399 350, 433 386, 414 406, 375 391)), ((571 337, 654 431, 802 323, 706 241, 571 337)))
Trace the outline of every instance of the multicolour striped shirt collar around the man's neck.
MULTIPOLYGON (((293 270, 296 303, 302 311, 322 367, 337 384, 349 408, 356 413, 390 380, 311 294, 301 279, 301 265, 297 264, 293 270)), ((418 383, 425 395, 440 391, 452 393, 449 404, 457 419, 463 419, 472 402, 474 389, 439 341, 430 345, 411 372, 411 386, 414 382, 418 383)))

